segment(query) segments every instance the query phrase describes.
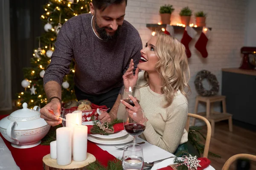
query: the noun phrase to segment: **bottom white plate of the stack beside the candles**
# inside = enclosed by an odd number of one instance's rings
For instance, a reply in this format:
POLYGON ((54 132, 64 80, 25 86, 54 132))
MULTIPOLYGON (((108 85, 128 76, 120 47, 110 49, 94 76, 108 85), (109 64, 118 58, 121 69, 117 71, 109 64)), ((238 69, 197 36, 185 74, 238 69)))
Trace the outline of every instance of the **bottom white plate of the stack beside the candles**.
POLYGON ((98 144, 124 144, 127 142, 131 142, 133 140, 133 137, 129 134, 122 136, 120 138, 116 138, 116 139, 100 139, 100 138, 96 138, 94 136, 88 135, 88 140, 91 142, 95 142, 98 144))

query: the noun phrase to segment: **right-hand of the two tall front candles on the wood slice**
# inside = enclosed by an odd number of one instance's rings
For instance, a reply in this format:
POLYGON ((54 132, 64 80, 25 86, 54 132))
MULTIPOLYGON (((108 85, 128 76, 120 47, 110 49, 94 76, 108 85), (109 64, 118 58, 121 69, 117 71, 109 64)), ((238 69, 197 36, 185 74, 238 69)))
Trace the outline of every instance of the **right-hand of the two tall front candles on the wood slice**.
POLYGON ((85 161, 87 159, 87 126, 74 127, 73 134, 73 160, 85 161))

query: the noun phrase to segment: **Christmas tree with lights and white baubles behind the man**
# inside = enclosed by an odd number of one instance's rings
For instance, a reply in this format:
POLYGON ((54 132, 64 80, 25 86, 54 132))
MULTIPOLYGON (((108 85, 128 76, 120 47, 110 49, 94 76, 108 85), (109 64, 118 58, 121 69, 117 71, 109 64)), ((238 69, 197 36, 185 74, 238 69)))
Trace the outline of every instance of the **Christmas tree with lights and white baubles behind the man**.
MULTIPOLYGON (((41 15, 44 23, 45 33, 38 37, 38 49, 34 50, 31 58, 31 67, 23 68, 24 80, 21 85, 23 92, 17 94, 16 106, 22 107, 26 102, 28 108, 35 105, 44 107, 47 104, 47 96, 44 92, 43 77, 47 66, 51 62, 54 51, 54 43, 61 26, 71 17, 90 11, 89 3, 91 0, 49 0, 43 6, 45 13, 41 15)), ((76 99, 73 89, 74 62, 70 65, 70 74, 63 79, 62 101, 67 102, 76 99)))

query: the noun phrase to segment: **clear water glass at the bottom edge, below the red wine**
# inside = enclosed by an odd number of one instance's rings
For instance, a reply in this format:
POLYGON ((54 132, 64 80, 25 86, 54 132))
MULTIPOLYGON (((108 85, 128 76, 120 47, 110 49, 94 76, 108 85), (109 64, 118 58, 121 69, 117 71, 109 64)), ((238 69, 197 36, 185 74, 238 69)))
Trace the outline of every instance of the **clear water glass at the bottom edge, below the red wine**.
POLYGON ((122 167, 124 170, 142 170, 144 166, 143 149, 140 144, 126 144, 122 167))

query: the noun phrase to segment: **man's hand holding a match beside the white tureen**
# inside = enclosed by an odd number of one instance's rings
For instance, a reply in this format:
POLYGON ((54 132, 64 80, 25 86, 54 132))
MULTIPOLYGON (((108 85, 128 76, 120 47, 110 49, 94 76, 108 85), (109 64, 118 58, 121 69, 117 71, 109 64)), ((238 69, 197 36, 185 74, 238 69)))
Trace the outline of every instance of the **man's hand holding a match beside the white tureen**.
POLYGON ((41 118, 43 118, 48 125, 56 126, 61 124, 62 119, 59 119, 61 112, 61 103, 58 99, 52 99, 44 108, 41 108, 41 118))

